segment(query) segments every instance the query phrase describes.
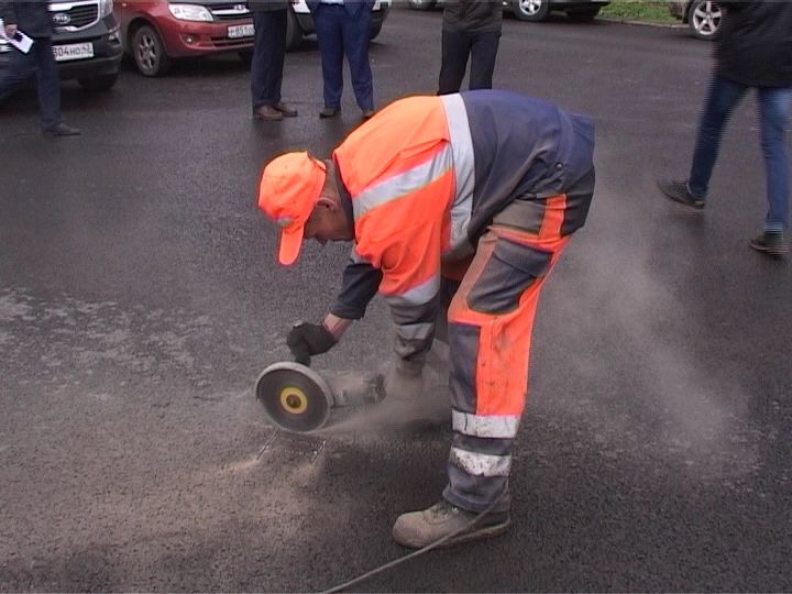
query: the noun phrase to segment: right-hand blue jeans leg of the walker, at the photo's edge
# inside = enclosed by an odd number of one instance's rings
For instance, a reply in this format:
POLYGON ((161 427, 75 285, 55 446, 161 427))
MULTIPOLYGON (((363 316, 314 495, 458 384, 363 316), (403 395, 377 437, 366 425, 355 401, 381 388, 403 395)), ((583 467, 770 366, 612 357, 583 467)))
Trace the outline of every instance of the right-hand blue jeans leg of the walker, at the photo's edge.
POLYGON ((789 226, 789 161, 784 133, 791 100, 790 87, 759 89, 759 124, 767 175, 766 231, 782 231, 789 226))

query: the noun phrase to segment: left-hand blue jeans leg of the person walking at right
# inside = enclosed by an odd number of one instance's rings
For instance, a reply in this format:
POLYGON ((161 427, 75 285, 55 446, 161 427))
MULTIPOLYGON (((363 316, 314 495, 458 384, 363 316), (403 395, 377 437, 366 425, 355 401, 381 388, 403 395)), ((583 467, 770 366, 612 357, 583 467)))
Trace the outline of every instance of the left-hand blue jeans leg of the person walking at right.
POLYGON ((717 75, 714 75, 710 82, 704 112, 698 122, 693 163, 688 178, 690 191, 696 197, 703 198, 707 194, 710 178, 721 147, 723 131, 729 116, 739 105, 746 90, 748 90, 748 87, 745 85, 726 80, 717 75))

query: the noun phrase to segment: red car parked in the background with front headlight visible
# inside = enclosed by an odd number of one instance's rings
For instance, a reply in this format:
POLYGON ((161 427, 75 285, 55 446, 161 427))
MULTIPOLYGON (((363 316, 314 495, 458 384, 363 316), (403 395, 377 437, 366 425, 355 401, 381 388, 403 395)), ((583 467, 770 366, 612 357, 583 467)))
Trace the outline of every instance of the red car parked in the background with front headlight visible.
POLYGON ((244 1, 117 0, 124 51, 144 76, 167 72, 172 58, 253 51, 253 16, 244 1))

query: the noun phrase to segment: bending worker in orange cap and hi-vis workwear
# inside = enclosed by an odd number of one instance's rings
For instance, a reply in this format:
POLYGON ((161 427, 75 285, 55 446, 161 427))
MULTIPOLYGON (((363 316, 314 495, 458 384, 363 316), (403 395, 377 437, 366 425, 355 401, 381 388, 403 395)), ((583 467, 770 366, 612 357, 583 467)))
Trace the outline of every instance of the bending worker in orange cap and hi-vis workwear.
POLYGON ((476 90, 398 100, 332 158, 288 153, 264 168, 258 206, 280 227, 282 264, 293 264, 307 239, 354 242, 330 314, 287 338, 297 361, 330 350, 378 292, 396 329, 387 397, 418 397, 436 320, 452 296, 449 482, 440 503, 397 519, 400 544, 418 548, 462 530, 450 544, 509 524, 534 315, 586 219, 593 150, 587 118, 476 90))

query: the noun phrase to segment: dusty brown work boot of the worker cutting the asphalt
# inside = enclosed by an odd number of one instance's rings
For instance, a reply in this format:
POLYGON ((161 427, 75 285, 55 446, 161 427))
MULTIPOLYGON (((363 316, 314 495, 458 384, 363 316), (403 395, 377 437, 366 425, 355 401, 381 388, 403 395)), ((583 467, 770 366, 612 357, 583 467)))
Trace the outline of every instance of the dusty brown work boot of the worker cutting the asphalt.
POLYGON ((473 514, 443 499, 428 509, 402 514, 394 524, 393 537, 403 547, 411 549, 441 539, 446 540, 439 547, 450 547, 505 532, 510 521, 508 512, 473 514))

